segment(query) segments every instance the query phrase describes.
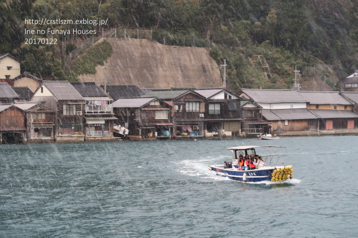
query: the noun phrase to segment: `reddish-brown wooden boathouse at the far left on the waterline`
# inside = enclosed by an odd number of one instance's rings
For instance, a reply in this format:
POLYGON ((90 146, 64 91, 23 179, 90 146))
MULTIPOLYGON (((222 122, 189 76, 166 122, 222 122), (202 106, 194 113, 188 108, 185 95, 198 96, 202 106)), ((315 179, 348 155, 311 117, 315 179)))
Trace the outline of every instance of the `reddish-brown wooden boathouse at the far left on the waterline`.
POLYGON ((25 141, 24 111, 14 105, 0 105, 0 144, 25 141))

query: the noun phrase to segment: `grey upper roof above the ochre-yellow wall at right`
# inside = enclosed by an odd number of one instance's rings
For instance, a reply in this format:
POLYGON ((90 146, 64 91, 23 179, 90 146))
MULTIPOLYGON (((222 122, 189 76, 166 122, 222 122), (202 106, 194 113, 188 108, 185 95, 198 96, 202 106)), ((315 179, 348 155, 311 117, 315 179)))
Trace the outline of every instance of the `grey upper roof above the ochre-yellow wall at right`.
POLYGON ((335 91, 298 91, 298 93, 310 104, 352 105, 352 103, 343 98, 339 92, 335 91))

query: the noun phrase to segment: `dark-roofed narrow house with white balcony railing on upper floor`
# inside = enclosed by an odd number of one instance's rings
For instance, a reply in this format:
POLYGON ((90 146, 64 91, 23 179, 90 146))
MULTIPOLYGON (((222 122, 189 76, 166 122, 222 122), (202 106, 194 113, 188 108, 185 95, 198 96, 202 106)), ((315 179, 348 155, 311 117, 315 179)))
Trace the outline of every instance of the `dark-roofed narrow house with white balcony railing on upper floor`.
POLYGON ((113 99, 94 82, 71 82, 85 100, 85 140, 113 140, 113 99))

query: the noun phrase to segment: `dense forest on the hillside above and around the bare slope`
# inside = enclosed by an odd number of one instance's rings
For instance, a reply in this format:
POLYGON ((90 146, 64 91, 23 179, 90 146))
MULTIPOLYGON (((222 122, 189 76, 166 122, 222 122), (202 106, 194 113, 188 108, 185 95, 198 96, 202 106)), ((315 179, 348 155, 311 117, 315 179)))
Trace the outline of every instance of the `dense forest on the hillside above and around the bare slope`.
MULTIPOLYGON (((292 85, 295 66, 303 69, 323 61, 346 74, 357 68, 357 8, 357 1, 334 0, 6 0, 0 3, 0 54, 13 54, 23 70, 36 76, 62 79, 67 54, 87 36, 55 35, 57 45, 24 45, 25 27, 48 28, 25 26, 24 19, 108 18, 105 28, 154 30, 152 37, 160 43, 214 45, 210 54, 219 64, 227 59, 233 88, 284 88, 292 85)), ((89 24, 76 28, 95 29, 89 24)), ((94 72, 94 62, 83 60, 67 73, 71 80, 94 72)))

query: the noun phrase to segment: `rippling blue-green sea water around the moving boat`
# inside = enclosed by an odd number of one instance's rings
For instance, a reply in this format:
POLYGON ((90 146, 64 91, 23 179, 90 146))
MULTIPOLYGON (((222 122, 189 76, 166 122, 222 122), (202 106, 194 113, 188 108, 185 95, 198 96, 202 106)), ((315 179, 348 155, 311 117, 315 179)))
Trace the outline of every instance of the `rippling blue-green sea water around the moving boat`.
POLYGON ((358 136, 0 145, 0 237, 356 237, 358 136), (292 180, 245 183, 228 147, 281 153, 292 180))

